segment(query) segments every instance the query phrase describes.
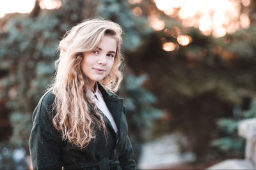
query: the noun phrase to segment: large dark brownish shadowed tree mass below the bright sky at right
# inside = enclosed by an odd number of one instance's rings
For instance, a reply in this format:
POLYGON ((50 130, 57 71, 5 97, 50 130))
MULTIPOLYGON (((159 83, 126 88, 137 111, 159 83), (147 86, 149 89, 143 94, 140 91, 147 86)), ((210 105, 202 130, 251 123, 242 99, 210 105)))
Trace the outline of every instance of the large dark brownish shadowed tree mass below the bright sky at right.
POLYGON ((223 38, 204 36, 195 28, 175 24, 164 30, 149 34, 136 52, 128 53, 128 64, 134 73, 150 76, 146 87, 159 99, 157 106, 166 110, 168 118, 159 121, 156 128, 184 132, 191 150, 198 159, 205 159, 211 155, 211 141, 220 138, 215 121, 230 117, 234 106, 255 96, 255 25, 241 31, 243 34, 223 38), (164 42, 179 44, 164 31, 174 27, 192 41, 166 52, 164 42))

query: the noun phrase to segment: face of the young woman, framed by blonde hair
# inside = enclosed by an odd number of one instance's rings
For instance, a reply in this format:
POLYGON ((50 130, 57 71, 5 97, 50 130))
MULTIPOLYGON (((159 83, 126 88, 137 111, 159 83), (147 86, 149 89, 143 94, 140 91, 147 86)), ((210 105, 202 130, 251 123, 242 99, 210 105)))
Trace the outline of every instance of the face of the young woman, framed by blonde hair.
POLYGON ((97 48, 92 52, 84 53, 82 71, 90 80, 90 87, 94 87, 96 81, 108 76, 116 55, 116 39, 104 36, 97 48))

